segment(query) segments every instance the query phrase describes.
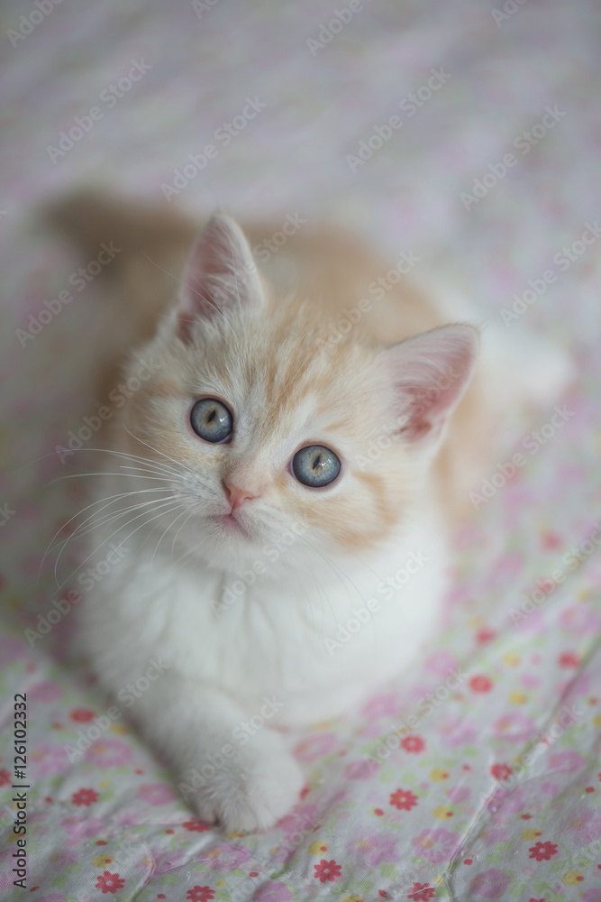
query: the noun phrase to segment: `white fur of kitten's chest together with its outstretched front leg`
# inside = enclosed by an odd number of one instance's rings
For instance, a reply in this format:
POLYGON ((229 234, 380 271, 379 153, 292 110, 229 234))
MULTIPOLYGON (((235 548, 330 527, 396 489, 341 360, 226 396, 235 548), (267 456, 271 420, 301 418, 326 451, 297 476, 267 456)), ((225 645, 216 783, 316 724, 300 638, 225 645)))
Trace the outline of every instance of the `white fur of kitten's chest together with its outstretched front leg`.
MULTIPOLYGON (((123 491, 123 481, 114 483, 123 491)), ((268 827, 294 804, 303 781, 271 724, 296 727, 356 710, 389 677, 419 666, 444 587, 442 537, 423 511, 410 536, 395 536, 378 554, 328 564, 302 535, 282 532, 287 542, 294 537, 289 550, 270 543, 255 557, 269 570, 215 611, 212 603, 222 601, 236 575, 194 557, 176 563, 160 549, 153 555, 156 540, 144 544, 149 531, 125 541, 123 557, 88 594, 81 610, 87 650, 117 696, 150 659, 166 666, 132 705, 147 739, 168 756, 185 796, 196 788, 191 772, 232 746, 236 757, 223 758, 191 804, 229 830, 268 827), (417 572, 387 597, 392 590, 381 582, 405 570, 412 552, 417 572), (427 562, 417 569, 420 555, 427 562), (378 603, 372 612, 369 599, 378 603), (340 627, 349 639, 341 640, 340 627), (266 698, 281 707, 241 745, 241 724, 255 715, 258 723, 266 698)), ((96 547, 109 536, 120 540, 106 527, 96 532, 96 547)))

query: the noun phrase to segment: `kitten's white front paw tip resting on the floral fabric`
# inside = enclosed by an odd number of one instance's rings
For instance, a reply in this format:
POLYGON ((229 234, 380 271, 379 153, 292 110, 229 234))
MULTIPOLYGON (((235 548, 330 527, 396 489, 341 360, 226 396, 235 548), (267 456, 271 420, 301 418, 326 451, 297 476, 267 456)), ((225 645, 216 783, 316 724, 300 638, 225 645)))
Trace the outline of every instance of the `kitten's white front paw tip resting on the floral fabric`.
POLYGON ((298 801, 303 775, 277 733, 264 729, 190 799, 198 815, 226 833, 267 830, 298 801))

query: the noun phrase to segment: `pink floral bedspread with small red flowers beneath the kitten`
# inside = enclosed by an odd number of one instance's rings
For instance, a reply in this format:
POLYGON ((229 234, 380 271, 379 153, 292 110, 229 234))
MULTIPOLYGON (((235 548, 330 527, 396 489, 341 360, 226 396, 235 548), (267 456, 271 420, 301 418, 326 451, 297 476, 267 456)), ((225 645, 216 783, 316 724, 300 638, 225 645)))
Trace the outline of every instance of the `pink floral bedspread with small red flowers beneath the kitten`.
POLYGON ((36 0, 0 17, 0 897, 599 902, 598 5, 36 0), (303 796, 268 833, 197 821, 132 728, 135 695, 115 704, 77 667, 82 565, 56 534, 87 502, 55 448, 94 446, 97 288, 34 226, 89 180, 329 216, 578 362, 472 499, 423 667, 298 737, 303 796))

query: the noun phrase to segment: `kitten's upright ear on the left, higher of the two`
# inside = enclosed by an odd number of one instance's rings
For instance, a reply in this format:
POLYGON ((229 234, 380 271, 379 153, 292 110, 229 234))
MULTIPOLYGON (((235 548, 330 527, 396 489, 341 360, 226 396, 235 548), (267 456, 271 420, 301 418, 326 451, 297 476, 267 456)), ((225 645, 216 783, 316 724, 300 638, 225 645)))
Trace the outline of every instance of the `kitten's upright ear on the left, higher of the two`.
POLYGON ((231 216, 216 213, 188 255, 178 292, 178 336, 189 342, 194 324, 226 308, 258 308, 263 290, 250 245, 231 216))

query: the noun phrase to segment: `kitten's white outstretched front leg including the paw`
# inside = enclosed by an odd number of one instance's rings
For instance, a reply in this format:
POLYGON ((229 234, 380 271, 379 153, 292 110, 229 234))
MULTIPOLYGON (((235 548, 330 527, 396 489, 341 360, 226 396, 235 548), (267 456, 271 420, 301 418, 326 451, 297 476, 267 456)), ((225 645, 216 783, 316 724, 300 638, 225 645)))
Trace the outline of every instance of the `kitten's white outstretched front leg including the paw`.
POLYGON ((282 736, 265 724, 250 735, 249 714, 222 692, 168 673, 132 713, 202 820, 264 830, 295 805, 303 776, 282 736))

